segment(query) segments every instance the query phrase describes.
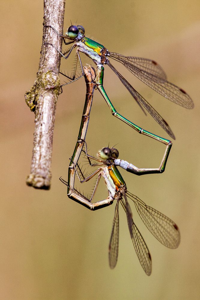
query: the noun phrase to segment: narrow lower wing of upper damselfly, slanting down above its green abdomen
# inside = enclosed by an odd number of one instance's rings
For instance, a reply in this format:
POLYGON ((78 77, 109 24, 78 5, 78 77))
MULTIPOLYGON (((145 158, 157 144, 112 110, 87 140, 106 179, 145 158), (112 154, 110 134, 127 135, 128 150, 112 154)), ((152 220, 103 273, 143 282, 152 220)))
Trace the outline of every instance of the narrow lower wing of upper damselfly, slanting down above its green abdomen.
POLYGON ((121 82, 125 85, 127 90, 133 96, 134 99, 137 99, 140 104, 150 113, 154 120, 169 134, 170 137, 175 139, 175 135, 172 132, 172 129, 169 127, 167 122, 160 116, 160 114, 133 88, 132 85, 113 67, 109 62, 108 66, 115 72, 121 82))

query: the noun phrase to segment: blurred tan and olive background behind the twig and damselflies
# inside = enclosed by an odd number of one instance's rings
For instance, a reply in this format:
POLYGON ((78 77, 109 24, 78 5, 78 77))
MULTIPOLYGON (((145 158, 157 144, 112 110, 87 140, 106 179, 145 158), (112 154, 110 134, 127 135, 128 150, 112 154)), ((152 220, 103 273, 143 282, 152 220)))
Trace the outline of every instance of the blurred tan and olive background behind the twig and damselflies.
MULTIPOLYGON (((153 270, 146 276, 120 209, 120 244, 114 270, 108 243, 114 205, 91 212, 67 198, 69 157, 78 135, 85 81, 64 88, 58 99, 49 191, 25 184, 32 155, 34 113, 24 93, 34 83, 43 33, 43 1, 1 1, 1 212, 0 299, 4 300, 178 300, 199 299, 199 1, 66 1, 64 30, 74 24, 110 51, 152 58, 193 98, 186 110, 118 70, 160 112, 175 133, 162 175, 121 172, 128 190, 174 220, 181 244, 161 245, 136 215, 151 251, 153 270)), ((64 48, 63 48, 64 49, 64 48)), ((82 55, 83 57, 83 55, 82 55)), ((89 58, 83 63, 91 64, 89 58)), ((61 70, 70 66, 62 61, 61 70)), ((105 67, 104 86, 117 110, 148 131, 169 138, 145 116, 114 73, 105 67)), ((138 167, 158 167, 164 145, 141 136, 113 118, 98 91, 87 135, 90 153, 117 144, 120 158, 138 167)), ((100 185, 97 200, 105 199, 100 185)))

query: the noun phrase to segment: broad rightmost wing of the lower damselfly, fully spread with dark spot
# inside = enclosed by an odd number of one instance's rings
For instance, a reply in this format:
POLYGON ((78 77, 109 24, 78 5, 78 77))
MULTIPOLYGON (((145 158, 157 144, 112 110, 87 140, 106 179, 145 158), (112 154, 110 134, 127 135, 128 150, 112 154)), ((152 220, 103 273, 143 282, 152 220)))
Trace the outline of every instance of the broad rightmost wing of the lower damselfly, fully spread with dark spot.
POLYGON ((181 241, 181 235, 176 223, 160 211, 146 205, 137 196, 128 191, 126 194, 133 200, 139 216, 155 238, 166 247, 177 248, 181 241))

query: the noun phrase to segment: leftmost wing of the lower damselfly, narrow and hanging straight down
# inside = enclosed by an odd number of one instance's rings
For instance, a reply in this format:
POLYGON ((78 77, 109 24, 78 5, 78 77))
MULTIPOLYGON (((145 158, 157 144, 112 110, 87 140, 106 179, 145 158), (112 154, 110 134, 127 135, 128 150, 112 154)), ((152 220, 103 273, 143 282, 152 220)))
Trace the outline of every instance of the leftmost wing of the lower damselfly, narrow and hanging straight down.
POLYGON ((119 249, 119 201, 115 206, 115 216, 112 224, 112 232, 109 242, 109 265, 111 269, 114 269, 118 259, 119 249))

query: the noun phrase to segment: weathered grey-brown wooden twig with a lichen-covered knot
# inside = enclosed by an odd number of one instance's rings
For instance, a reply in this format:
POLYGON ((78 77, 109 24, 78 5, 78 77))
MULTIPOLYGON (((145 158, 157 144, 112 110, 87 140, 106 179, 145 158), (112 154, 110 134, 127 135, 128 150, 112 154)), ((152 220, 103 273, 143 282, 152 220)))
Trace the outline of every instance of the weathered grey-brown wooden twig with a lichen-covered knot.
MULTIPOLYGON (((63 32, 65 0, 44 0, 44 23, 63 32)), ((26 184, 49 189, 51 182, 52 142, 55 111, 60 92, 61 55, 50 45, 62 49, 62 39, 50 27, 43 28, 39 69, 34 85, 25 93, 25 101, 35 113, 31 171, 26 184)))

